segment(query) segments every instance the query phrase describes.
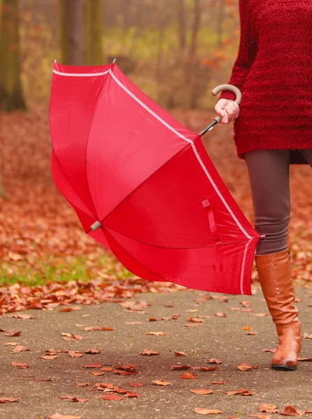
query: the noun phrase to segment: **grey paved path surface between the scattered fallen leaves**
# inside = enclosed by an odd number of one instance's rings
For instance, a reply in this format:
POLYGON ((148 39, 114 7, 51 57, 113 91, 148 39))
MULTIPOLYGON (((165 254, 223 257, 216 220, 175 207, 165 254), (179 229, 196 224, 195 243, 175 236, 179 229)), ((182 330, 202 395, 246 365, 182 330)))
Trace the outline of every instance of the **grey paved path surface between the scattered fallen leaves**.
MULTIPOLYGON (((301 312, 303 332, 312 334, 312 288, 297 287, 297 303, 301 312), (309 298, 311 297, 311 298, 309 298)), ((0 397, 15 397, 16 403, 0 404, 0 418, 35 419, 48 418, 54 413, 81 416, 82 419, 98 418, 200 418, 195 408, 218 409, 223 413, 212 417, 246 418, 249 414, 259 413, 260 404, 275 404, 280 411, 292 405, 296 409, 312 409, 312 362, 299 362, 297 372, 274 372, 269 369, 271 353, 264 348, 274 348, 276 337, 274 325, 269 316, 251 316, 266 313, 267 308, 262 293, 257 290, 253 296, 232 296, 201 291, 179 291, 168 294, 146 293, 138 298, 123 302, 134 304, 128 311, 118 303, 103 303, 80 306, 79 311, 60 312, 29 310, 36 318, 22 320, 1 319, 3 330, 21 331, 17 337, 0 333, 0 397), (207 296, 213 299, 207 299, 207 296), (144 307, 146 302, 148 305, 144 307), (251 302, 240 304, 241 302, 251 302), (172 304, 170 304, 172 303, 172 304), (170 307, 172 305, 172 307, 170 307), (237 308, 231 310, 231 308, 237 308), (242 311, 245 309, 253 311, 242 311), (226 313, 227 317, 217 317, 216 313, 226 313), (172 316, 173 314, 173 316, 172 316), (188 318, 201 318, 199 327, 186 327, 188 318), (147 321, 154 318, 172 320, 147 321), (176 319, 175 319, 176 318, 176 319), (140 322, 127 324, 128 322, 140 322), (111 327, 114 330, 82 331, 88 327, 111 327), (251 328, 257 335, 246 335, 251 328), (83 339, 65 341, 61 332, 81 335, 83 339), (166 335, 147 335, 147 332, 165 332, 166 335), (30 351, 13 353, 15 342, 27 346, 30 351), (98 354, 84 351, 97 348, 98 354), (40 358, 47 349, 60 351, 80 351, 84 355, 71 358, 61 352, 54 360, 40 358), (160 355, 140 355, 144 349, 153 349, 160 355), (174 351, 183 351, 187 356, 177 357, 174 351), (217 358, 222 363, 211 365, 207 359, 217 358), (29 364, 27 369, 13 367, 11 362, 29 364), (258 366, 242 372, 237 368, 247 362, 258 366), (134 364, 139 374, 120 375, 103 372, 101 368, 84 368, 84 365, 98 363, 104 367, 118 364, 134 364), (173 365, 191 367, 217 367, 212 371, 190 369, 195 379, 179 378, 186 371, 170 370, 173 365), (101 376, 93 372, 103 373, 101 376), (35 378, 50 378, 52 381, 36 381, 35 378), (164 380, 171 385, 156 385, 152 381, 164 380), (225 381, 223 385, 212 384, 225 381), (140 382, 144 386, 131 387, 130 383, 140 382), (77 383, 89 383, 80 387, 77 383), (96 383, 112 383, 131 392, 139 392, 140 397, 126 397, 118 401, 101 399, 104 393, 90 391, 96 383), (213 390, 209 395, 198 395, 191 389, 206 388, 213 390), (247 388, 256 392, 252 396, 225 395, 225 392, 247 388), (88 399, 77 403, 60 396, 88 399)), ((312 357, 312 340, 303 339, 302 357, 312 357)), ((114 393, 117 394, 117 393, 114 393)), ((278 417, 277 415, 275 415, 278 417)), ((206 416, 206 417, 211 417, 206 416)), ((279 416, 281 417, 281 416, 279 416)), ((304 416, 306 418, 312 415, 304 416)))

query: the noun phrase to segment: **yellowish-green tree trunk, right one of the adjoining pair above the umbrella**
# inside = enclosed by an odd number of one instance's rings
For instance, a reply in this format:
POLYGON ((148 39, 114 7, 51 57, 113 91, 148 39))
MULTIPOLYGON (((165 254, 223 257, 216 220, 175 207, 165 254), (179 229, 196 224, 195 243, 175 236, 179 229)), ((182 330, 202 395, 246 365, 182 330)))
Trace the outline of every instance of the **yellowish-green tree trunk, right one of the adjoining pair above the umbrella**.
POLYGON ((103 64, 103 0, 84 0, 84 64, 103 64))

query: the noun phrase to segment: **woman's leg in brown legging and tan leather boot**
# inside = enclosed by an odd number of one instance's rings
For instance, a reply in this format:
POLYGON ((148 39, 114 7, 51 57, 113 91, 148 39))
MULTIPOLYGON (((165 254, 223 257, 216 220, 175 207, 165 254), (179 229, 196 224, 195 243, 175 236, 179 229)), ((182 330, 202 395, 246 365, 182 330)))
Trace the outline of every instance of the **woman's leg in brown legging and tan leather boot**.
POLYGON ((265 235, 258 242, 255 265, 278 333, 279 344, 272 368, 295 369, 302 337, 287 249, 290 151, 250 152, 245 154, 245 160, 253 196, 255 230, 265 235))

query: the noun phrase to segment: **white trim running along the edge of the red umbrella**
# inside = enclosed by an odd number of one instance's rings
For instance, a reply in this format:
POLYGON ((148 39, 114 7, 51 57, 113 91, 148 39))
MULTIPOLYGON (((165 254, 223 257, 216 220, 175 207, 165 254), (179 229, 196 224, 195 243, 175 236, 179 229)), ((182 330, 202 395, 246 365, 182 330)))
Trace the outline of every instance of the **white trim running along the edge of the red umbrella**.
POLYGON ((142 101, 140 101, 140 99, 137 96, 135 96, 135 94, 133 94, 132 91, 130 91, 129 89, 127 89, 127 87, 124 84, 121 83, 121 81, 114 75, 114 73, 112 73, 112 69, 111 68, 109 70, 107 70, 107 71, 104 71, 103 73, 62 73, 61 71, 57 71, 57 70, 54 70, 54 69, 53 69, 53 73, 58 74, 58 75, 64 75, 64 76, 72 76, 72 77, 93 77, 93 76, 96 76, 96 75, 105 75, 107 73, 110 73, 110 75, 112 76, 112 78, 114 79, 114 81, 117 82, 117 84, 119 84, 119 86, 121 87, 121 89, 123 89, 124 91, 126 91, 126 93, 129 96, 131 96, 136 102, 138 102, 142 106, 142 108, 144 108, 145 110, 147 110, 147 112, 149 112, 156 119, 158 119, 158 121, 161 122, 161 124, 165 125, 174 134, 176 134, 180 138, 182 138, 182 140, 187 141, 187 142, 189 142, 192 145, 193 152, 195 153, 195 156, 198 159, 198 162, 200 163, 200 166, 202 166, 202 170, 204 170, 206 176, 208 177, 209 182, 211 183, 211 185, 214 187, 214 190, 218 194, 218 197, 221 199, 221 201, 225 205, 226 209, 228 210, 228 212, 232 216, 232 219, 234 219, 235 223, 237 223, 237 226, 240 228, 240 230, 242 230, 242 233, 244 233, 244 235, 249 239, 249 241, 246 243, 246 246, 245 246, 245 249, 244 249, 244 256, 243 256, 243 260, 242 260, 241 279, 240 279, 241 292, 242 292, 242 294, 244 294, 244 289, 243 289, 243 284, 244 284, 244 267, 245 267, 245 263, 246 263, 246 255, 247 255, 248 246, 249 246, 251 240, 253 239, 253 237, 251 237, 251 235, 248 235, 248 233, 246 232, 246 230, 244 229, 244 227, 242 226, 242 224, 237 219, 237 216, 235 216, 235 214, 230 209, 230 206, 226 202, 226 200, 223 197, 222 193, 219 191, 218 186, 216 186, 216 184, 214 183, 214 180, 212 179, 211 175, 209 174, 209 172, 208 172, 208 170, 207 170, 207 168, 205 166, 205 163, 200 158, 200 154, 198 153, 198 150, 196 149, 196 146, 195 146, 195 143, 193 142, 193 140, 190 140, 189 138, 187 138, 184 135, 182 135, 181 133, 179 133, 179 131, 177 131, 176 129, 174 129, 170 124, 168 124, 168 122, 165 122, 164 119, 162 119, 159 115, 157 115, 155 112, 153 112, 151 110, 151 108, 149 108, 147 105, 145 105, 145 103, 143 103, 142 101))

